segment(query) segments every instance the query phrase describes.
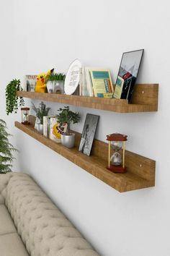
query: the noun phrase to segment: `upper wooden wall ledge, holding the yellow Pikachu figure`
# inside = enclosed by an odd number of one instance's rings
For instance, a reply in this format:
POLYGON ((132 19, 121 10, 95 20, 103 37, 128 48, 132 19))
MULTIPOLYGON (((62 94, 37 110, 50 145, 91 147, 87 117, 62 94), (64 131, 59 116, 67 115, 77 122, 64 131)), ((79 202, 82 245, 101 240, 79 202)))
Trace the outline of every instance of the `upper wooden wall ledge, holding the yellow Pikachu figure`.
POLYGON ((18 91, 17 96, 34 98, 41 101, 53 101, 86 108, 97 108, 119 113, 158 111, 158 84, 135 85, 130 104, 127 100, 115 98, 97 98, 79 95, 55 93, 35 93, 18 91))

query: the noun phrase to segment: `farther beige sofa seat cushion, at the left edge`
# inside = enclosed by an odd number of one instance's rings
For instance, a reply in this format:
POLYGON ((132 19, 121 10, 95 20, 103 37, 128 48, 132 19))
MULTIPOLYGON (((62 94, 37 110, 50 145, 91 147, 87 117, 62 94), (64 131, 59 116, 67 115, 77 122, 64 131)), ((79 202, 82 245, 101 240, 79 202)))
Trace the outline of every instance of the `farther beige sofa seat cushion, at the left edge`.
POLYGON ((6 206, 0 205, 0 235, 14 232, 16 233, 17 230, 15 229, 14 222, 6 209, 6 206))

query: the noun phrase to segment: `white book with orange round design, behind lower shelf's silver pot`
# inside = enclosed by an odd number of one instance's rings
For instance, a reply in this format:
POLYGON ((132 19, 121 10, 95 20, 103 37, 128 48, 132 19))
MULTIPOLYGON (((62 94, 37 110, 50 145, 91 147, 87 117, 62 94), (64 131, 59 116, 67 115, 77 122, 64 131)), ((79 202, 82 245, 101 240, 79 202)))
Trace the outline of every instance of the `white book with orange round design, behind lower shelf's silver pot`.
POLYGON ((66 132, 67 124, 59 124, 57 117, 50 118, 50 140, 61 142, 61 135, 66 132))

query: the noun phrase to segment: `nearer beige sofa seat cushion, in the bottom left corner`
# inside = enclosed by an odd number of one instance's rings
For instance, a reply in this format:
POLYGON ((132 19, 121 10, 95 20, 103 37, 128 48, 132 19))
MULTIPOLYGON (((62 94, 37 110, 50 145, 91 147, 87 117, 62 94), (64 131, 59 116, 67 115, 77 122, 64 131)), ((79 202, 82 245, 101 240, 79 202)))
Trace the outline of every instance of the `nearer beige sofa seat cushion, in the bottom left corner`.
POLYGON ((1 256, 29 256, 17 233, 0 235, 1 256))

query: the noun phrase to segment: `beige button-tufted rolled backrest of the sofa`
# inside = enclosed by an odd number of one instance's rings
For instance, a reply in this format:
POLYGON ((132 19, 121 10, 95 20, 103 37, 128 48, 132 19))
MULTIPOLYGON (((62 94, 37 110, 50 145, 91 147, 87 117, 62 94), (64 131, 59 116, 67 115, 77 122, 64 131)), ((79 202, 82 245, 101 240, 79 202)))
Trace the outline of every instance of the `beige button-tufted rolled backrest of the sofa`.
POLYGON ((13 173, 5 202, 31 256, 99 256, 27 174, 13 173))

